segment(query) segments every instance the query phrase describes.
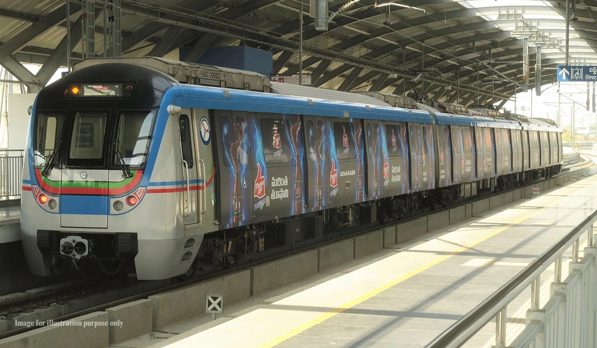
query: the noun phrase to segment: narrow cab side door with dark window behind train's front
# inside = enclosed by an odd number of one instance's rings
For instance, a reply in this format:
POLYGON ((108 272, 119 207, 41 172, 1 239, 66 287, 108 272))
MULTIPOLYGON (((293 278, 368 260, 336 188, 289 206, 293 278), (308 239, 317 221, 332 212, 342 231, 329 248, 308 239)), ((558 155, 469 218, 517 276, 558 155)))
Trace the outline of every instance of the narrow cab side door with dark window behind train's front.
POLYGON ((198 198, 198 156, 195 152, 195 127, 193 127, 193 114, 190 109, 182 109, 179 115, 180 149, 183 161, 181 163, 183 180, 181 183, 183 194, 182 213, 184 224, 199 222, 198 198))

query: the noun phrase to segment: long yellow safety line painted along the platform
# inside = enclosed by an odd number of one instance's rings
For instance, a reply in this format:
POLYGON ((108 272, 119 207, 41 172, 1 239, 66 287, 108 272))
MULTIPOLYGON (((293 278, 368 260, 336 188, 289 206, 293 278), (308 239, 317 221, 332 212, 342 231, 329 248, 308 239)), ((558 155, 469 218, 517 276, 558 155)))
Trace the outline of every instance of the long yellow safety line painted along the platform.
MULTIPOLYGON (((578 188, 575 191, 578 191, 578 190, 581 190, 581 189, 584 189, 584 188, 586 188, 586 187, 578 188)), ((474 247, 475 245, 477 245, 477 244, 479 244, 481 242, 486 241, 487 239, 489 239, 489 238, 497 235, 498 233, 504 232, 505 230, 509 229, 510 227, 515 226, 516 224, 519 224, 519 223, 521 223, 524 220, 527 220, 527 218, 530 218, 533 215, 537 215, 538 213, 540 213, 543 210, 546 210, 547 208, 553 207, 553 205, 557 204, 561 199, 562 198, 558 199, 557 201, 553 202, 550 205, 546 205, 545 207, 541 208, 540 210, 537 210, 537 211, 534 211, 533 213, 529 213, 527 215, 524 215, 523 217, 519 218, 516 221, 513 221, 512 223, 508 224, 507 226, 500 227, 499 229, 496 229, 493 232, 488 233, 485 236, 482 236, 481 238, 477 239, 476 241, 474 241, 474 242, 472 242, 470 244, 464 245, 464 247, 461 247, 461 248, 459 248, 456 251, 450 252, 450 254, 442 256, 442 257, 438 258, 435 261, 432 261, 430 263, 425 264, 424 266, 418 267, 416 270, 413 270, 413 271, 411 271, 411 272, 409 272, 409 273, 407 273, 407 274, 405 274, 405 275, 403 275, 403 276, 401 276, 399 278, 396 278, 393 281, 388 282, 387 284, 382 285, 381 287, 377 288, 376 290, 371 290, 370 292, 367 292, 366 294, 363 294, 363 295, 355 298, 352 301, 348 301, 347 303, 344 303, 340 307, 337 307, 337 308, 335 308, 333 310, 330 310, 330 312, 327 312, 325 314, 322 314, 321 316, 318 316, 318 318, 312 319, 312 320, 306 322, 303 325, 300 325, 300 326, 298 326, 298 327, 296 327, 294 329, 291 329, 290 331, 286 332, 285 334, 279 335, 276 338, 272 338, 272 340, 270 340, 270 341, 268 341, 266 343, 263 343, 263 344, 261 344, 258 347, 259 348, 270 348, 270 347, 275 346, 276 344, 282 343, 285 340, 288 340, 288 338, 294 337, 294 336, 300 334, 301 332, 305 331, 306 329, 314 327, 315 325, 320 324, 321 322, 324 322, 325 320, 330 319, 333 316, 344 312, 344 310, 350 309, 350 308, 356 306, 357 304, 361 303, 362 301, 368 300, 369 298, 371 298, 371 297, 379 294, 380 292, 388 290, 389 288, 393 287, 394 285, 396 285, 396 284, 398 284, 398 283, 400 283, 402 281, 405 281, 408 278, 411 278, 412 276, 417 275, 418 273, 421 273, 424 270, 429 269, 430 267, 433 267, 433 266, 435 266, 438 263, 441 263, 441 262, 443 262, 445 260, 448 260, 448 258, 453 257, 454 255, 459 254, 460 252, 468 250, 468 249, 474 247)), ((408 252, 408 251, 404 251, 404 252, 408 252)))

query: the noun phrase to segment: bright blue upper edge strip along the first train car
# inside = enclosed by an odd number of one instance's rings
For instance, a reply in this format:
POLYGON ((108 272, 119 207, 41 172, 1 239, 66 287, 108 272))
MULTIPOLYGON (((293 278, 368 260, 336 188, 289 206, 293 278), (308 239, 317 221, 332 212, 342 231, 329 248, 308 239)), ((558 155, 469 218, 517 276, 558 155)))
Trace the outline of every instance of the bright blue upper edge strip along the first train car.
POLYGON ((184 96, 177 98, 177 104, 184 108, 239 110, 268 113, 289 113, 295 115, 328 116, 346 118, 382 119, 433 123, 428 112, 400 109, 391 106, 366 105, 331 101, 317 98, 282 96, 225 88, 181 85, 184 96))

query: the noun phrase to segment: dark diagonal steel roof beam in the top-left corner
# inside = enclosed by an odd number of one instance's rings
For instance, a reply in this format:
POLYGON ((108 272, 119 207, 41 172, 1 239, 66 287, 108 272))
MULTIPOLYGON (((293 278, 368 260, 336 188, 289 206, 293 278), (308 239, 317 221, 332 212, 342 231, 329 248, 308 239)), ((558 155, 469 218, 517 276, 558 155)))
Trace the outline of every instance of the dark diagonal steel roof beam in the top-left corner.
MULTIPOLYGON (((77 14, 81 10, 81 5, 70 2, 70 10, 70 13, 77 14)), ((0 47, 0 61, 19 51, 21 48, 27 45, 27 42, 35 39, 37 36, 41 35, 48 29, 51 29, 64 20, 66 20, 66 4, 52 11, 41 20, 31 24, 17 36, 14 36, 13 39, 2 45, 2 47, 0 47)))

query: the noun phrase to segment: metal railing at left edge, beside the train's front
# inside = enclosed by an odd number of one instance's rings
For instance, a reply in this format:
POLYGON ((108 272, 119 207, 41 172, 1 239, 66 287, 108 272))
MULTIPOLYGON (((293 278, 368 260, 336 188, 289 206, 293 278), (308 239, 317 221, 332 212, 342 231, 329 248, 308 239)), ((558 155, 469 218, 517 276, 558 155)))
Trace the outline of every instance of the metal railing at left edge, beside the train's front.
POLYGON ((24 150, 0 149, 0 201, 21 198, 24 150))

